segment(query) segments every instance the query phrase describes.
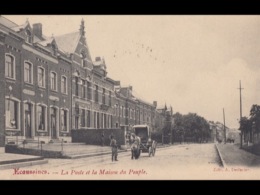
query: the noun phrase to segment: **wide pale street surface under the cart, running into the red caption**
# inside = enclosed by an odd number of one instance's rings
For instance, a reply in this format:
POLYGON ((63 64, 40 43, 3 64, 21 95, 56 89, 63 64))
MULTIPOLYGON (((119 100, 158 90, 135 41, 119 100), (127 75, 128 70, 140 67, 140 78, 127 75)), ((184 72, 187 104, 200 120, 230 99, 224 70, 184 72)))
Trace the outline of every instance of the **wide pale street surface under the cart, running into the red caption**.
POLYGON ((130 151, 81 159, 49 159, 48 164, 1 171, 6 179, 207 179, 220 167, 215 145, 184 144, 159 148, 154 157, 142 153, 131 160, 130 151))

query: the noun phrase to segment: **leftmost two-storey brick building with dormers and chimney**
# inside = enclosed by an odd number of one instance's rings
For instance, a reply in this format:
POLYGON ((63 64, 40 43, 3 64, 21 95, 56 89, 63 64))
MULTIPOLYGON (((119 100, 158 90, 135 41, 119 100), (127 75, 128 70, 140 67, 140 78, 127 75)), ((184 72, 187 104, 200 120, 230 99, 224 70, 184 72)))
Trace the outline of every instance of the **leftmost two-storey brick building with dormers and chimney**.
POLYGON ((53 37, 43 36, 41 24, 26 21, 19 26, 0 17, 0 31, 1 135, 66 139, 71 116, 69 58, 53 37))

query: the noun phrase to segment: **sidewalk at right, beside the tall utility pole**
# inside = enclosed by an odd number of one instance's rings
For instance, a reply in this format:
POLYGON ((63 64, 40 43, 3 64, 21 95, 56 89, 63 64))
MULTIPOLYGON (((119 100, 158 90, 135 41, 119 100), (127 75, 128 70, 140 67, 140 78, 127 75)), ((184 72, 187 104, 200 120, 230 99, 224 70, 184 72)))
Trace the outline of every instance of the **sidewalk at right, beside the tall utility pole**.
POLYGON ((239 149, 236 144, 216 144, 224 166, 260 167, 260 156, 239 149))

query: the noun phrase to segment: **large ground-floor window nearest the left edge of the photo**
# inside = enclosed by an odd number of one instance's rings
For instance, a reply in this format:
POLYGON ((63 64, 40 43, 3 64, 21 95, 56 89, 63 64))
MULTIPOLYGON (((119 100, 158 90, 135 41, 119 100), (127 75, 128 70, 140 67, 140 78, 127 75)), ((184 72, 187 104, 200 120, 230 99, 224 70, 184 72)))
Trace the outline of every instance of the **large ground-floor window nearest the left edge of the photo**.
POLYGON ((5 100, 5 125, 8 129, 18 129, 18 102, 5 100))

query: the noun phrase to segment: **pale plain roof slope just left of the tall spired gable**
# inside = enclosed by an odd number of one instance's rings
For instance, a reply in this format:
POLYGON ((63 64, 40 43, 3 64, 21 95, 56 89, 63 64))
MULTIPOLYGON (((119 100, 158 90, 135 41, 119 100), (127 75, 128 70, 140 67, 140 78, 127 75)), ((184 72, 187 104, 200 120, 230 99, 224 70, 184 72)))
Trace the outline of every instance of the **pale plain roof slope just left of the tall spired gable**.
POLYGON ((80 32, 73 32, 55 36, 55 41, 60 49, 66 53, 74 53, 80 39, 80 32))

